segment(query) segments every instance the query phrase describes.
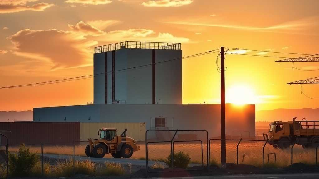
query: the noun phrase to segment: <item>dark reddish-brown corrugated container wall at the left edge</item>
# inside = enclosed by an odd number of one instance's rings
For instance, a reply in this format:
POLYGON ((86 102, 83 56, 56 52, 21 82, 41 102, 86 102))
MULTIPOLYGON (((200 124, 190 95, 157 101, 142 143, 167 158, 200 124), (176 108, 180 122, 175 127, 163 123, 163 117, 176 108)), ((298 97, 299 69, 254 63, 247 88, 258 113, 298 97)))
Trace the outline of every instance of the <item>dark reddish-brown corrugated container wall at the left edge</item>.
MULTIPOLYGON (((9 144, 66 143, 80 140, 80 122, 1 122, 0 131, 9 137, 9 144)), ((6 139, 1 138, 1 144, 6 139)))

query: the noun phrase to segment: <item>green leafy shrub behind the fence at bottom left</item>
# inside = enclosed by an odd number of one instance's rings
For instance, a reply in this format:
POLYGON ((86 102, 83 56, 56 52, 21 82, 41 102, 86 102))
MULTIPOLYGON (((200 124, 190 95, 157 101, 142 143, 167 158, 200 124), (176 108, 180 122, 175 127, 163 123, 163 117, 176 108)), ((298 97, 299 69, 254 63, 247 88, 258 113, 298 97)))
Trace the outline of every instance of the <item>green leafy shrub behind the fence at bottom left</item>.
POLYGON ((30 152, 24 144, 19 147, 19 153, 9 153, 9 174, 11 176, 29 176, 31 169, 40 160, 36 153, 30 152))

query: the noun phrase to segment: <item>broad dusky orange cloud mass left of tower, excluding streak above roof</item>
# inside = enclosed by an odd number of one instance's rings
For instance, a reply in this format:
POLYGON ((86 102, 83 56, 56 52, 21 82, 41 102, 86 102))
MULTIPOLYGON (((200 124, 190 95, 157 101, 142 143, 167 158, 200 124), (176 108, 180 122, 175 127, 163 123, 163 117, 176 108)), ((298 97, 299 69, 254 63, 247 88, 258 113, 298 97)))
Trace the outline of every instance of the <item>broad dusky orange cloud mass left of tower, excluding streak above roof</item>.
POLYGON ((13 54, 41 60, 48 63, 52 69, 92 65, 91 47, 97 45, 97 41, 57 29, 24 29, 7 39, 15 46, 13 54))

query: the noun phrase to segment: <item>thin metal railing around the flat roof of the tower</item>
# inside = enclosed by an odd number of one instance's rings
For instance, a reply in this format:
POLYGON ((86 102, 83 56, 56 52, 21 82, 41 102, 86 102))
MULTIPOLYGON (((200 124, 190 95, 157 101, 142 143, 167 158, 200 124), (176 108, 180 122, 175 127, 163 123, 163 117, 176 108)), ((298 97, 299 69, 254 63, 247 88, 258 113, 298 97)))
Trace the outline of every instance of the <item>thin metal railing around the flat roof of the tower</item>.
POLYGON ((123 48, 181 50, 181 43, 125 41, 94 47, 94 54, 123 48))

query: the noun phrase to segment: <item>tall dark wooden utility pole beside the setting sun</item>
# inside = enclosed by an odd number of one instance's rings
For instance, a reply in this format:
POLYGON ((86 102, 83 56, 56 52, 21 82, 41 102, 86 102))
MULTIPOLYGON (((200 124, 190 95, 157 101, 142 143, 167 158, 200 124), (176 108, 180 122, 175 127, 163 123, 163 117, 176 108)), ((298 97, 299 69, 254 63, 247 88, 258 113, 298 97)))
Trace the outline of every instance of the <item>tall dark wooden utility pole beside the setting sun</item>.
POLYGON ((226 168, 226 134, 225 134, 225 49, 220 47, 220 136, 221 165, 226 168))

